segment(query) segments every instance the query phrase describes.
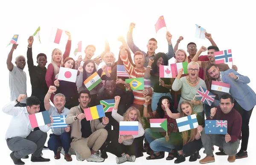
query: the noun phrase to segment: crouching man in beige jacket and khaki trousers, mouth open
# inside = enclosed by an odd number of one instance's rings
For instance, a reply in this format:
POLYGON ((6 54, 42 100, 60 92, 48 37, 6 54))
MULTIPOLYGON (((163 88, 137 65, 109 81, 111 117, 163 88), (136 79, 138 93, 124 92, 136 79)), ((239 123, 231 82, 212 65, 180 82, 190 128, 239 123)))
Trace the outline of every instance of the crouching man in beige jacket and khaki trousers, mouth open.
POLYGON ((76 159, 79 161, 87 159, 88 162, 103 162, 105 159, 96 155, 96 152, 108 137, 108 131, 104 129, 108 124, 108 117, 103 117, 102 123, 99 119, 87 121, 84 109, 90 103, 90 92, 82 90, 78 100, 80 104, 71 108, 66 118, 66 123, 71 124, 71 148, 76 151, 76 159))

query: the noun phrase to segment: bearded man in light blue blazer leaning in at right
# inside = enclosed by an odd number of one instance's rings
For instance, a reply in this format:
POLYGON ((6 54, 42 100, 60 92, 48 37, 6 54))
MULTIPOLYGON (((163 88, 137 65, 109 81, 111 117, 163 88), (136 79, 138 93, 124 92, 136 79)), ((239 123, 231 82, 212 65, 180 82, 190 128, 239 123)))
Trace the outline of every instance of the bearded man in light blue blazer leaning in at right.
POLYGON ((240 151, 236 154, 236 159, 248 157, 246 150, 249 139, 249 121, 253 108, 256 105, 256 94, 247 85, 250 83, 250 79, 247 76, 240 75, 233 69, 220 72, 215 64, 210 64, 206 70, 212 80, 230 84, 230 94, 235 99, 233 108, 242 117, 242 143, 240 151))

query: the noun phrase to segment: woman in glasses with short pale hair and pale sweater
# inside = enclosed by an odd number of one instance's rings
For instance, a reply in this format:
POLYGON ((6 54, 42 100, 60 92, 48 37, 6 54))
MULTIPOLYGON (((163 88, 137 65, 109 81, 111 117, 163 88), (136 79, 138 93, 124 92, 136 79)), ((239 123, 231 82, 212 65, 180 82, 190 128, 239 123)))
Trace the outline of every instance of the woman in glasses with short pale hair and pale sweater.
MULTIPOLYGON (((191 103, 193 110, 198 115, 202 116, 203 112, 203 102, 195 98, 195 94, 198 91, 198 88, 201 86, 205 89, 207 89, 206 84, 204 80, 198 77, 198 71, 199 71, 199 64, 196 62, 190 62, 188 64, 187 69, 189 75, 182 76, 183 68, 179 70, 178 76, 175 78, 175 81, 172 84, 172 90, 178 91, 181 89, 181 97, 179 104, 182 101, 189 101, 191 103)), ((180 112, 180 105, 177 109, 180 112)))

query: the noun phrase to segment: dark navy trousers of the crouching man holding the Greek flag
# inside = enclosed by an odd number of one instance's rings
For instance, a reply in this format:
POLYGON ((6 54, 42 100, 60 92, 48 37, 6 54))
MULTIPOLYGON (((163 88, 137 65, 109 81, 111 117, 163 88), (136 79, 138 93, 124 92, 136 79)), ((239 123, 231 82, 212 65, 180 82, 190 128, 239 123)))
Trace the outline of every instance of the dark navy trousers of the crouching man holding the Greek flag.
POLYGON ((58 147, 63 147, 65 154, 67 154, 70 142, 70 132, 64 132, 61 135, 50 134, 48 148, 54 152, 54 155, 57 155, 58 147))

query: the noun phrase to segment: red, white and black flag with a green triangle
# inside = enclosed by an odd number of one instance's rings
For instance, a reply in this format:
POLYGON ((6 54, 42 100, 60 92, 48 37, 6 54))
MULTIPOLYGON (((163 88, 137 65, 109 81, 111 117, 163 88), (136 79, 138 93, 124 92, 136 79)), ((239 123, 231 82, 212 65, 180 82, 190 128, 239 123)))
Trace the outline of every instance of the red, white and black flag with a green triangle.
POLYGON ((167 119, 149 119, 151 131, 167 132, 167 119))

